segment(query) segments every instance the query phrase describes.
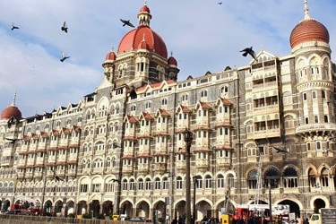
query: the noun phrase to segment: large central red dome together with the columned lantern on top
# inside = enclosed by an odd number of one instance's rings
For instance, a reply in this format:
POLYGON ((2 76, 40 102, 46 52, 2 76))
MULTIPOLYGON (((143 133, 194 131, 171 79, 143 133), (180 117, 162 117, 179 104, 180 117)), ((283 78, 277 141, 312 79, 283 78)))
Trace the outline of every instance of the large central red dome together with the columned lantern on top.
POLYGON ((147 5, 143 5, 138 14, 138 28, 126 33, 119 43, 117 54, 123 54, 131 50, 142 47, 142 42, 146 42, 147 49, 155 52, 164 58, 168 57, 167 47, 163 39, 155 31, 151 30, 151 13, 147 5))

